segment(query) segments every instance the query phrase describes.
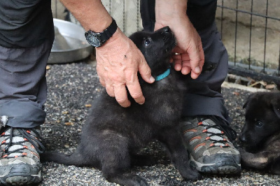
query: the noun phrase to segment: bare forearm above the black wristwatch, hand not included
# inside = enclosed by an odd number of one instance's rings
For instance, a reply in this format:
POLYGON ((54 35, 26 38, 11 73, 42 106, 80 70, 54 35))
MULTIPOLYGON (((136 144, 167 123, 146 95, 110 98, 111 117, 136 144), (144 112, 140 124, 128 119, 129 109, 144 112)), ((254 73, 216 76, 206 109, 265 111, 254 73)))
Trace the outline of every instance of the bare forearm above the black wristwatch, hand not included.
POLYGON ((100 0, 60 0, 84 29, 103 31, 112 22, 111 15, 100 0))

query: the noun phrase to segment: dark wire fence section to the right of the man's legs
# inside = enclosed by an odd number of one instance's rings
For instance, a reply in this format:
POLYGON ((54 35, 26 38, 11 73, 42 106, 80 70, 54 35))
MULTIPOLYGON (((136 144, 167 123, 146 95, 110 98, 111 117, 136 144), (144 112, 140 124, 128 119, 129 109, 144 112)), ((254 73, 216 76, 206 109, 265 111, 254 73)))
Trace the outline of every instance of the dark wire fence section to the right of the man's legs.
POLYGON ((279 0, 218 0, 216 22, 230 73, 280 85, 279 7, 279 0))

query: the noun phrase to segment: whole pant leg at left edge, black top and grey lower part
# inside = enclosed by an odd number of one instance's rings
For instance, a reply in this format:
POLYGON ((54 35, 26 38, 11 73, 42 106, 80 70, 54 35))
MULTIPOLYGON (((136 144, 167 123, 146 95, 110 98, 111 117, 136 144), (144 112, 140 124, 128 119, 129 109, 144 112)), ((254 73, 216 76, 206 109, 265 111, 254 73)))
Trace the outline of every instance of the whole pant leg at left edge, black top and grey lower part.
POLYGON ((54 39, 50 1, 3 1, 0 11, 5 7, 10 11, 0 13, 0 124, 33 128, 45 121, 45 66, 54 39))

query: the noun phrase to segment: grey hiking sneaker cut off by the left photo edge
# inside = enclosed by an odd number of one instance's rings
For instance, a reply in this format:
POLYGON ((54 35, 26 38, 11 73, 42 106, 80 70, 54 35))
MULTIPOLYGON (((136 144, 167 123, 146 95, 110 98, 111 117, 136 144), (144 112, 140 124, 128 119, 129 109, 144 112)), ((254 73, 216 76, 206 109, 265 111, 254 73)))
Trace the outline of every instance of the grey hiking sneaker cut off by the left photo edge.
POLYGON ((0 131, 0 185, 29 185, 42 180, 39 129, 5 127, 0 131))

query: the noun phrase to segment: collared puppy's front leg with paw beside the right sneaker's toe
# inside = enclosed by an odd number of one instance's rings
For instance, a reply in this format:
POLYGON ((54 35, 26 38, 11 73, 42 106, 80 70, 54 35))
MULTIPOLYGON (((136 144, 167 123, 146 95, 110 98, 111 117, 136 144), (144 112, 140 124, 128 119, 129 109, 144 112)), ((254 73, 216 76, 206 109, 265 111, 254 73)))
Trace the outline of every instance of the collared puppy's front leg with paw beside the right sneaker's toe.
POLYGON ((165 131, 160 132, 158 140, 166 146, 174 166, 183 178, 188 180, 199 180, 201 178, 200 173, 190 167, 188 151, 183 145, 179 131, 172 128, 165 129, 165 131))

